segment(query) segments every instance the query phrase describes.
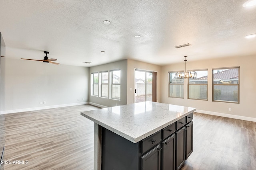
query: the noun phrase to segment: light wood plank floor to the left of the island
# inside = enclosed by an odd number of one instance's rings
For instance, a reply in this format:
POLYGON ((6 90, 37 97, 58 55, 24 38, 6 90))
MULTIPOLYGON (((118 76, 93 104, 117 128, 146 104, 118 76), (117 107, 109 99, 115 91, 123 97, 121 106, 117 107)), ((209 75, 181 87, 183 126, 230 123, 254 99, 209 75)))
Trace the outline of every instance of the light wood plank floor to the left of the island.
MULTIPOLYGON (((91 105, 0 115, 5 131, 4 170, 92 170, 94 122, 81 111, 91 105)), ((2 167, 1 167, 2 168, 2 167)))

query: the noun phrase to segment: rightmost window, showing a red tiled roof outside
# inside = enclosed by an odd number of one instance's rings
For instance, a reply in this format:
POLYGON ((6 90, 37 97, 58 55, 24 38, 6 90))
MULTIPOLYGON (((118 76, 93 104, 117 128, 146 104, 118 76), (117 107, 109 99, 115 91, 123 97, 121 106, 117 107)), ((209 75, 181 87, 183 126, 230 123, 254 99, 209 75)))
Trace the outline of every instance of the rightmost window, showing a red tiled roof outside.
POLYGON ((239 67, 212 69, 212 101, 239 103, 239 67))

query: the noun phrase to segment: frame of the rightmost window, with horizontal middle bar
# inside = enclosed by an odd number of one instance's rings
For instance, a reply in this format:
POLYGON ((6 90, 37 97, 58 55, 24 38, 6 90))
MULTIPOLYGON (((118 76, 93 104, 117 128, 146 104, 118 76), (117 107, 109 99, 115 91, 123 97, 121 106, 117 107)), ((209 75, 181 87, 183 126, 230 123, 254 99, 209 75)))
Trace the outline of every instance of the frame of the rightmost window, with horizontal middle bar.
POLYGON ((222 103, 232 103, 232 104, 239 104, 240 103, 240 66, 234 67, 222 67, 222 68, 212 68, 212 102, 222 102, 222 103), (238 84, 214 84, 214 70, 224 70, 224 69, 232 69, 238 68, 238 84), (214 100, 214 85, 215 86, 237 86, 238 88, 238 99, 237 102, 226 101, 226 100, 214 100))

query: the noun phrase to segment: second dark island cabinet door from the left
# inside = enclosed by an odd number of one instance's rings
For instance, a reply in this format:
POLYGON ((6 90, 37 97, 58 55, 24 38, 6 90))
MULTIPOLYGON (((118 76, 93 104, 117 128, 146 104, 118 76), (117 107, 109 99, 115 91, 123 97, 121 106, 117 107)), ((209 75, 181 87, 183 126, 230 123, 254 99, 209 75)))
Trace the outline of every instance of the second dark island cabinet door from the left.
POLYGON ((162 170, 175 170, 175 134, 162 142, 162 170))

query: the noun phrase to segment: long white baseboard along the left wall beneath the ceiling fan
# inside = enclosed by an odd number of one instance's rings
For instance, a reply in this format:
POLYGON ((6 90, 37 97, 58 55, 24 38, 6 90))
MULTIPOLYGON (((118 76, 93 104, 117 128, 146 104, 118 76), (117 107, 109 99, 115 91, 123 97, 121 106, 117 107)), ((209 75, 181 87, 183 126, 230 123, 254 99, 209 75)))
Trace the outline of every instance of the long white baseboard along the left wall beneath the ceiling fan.
POLYGON ((6 111, 0 111, 0 115, 8 114, 8 113, 18 113, 18 112, 24 112, 24 111, 34 111, 34 110, 42 110, 42 109, 53 109, 53 108, 66 107, 66 106, 77 106, 77 105, 83 105, 83 104, 89 104, 89 102, 72 103, 72 104, 60 104, 60 105, 44 106, 44 107, 32 107, 32 108, 16 109, 16 110, 6 110, 6 111))

